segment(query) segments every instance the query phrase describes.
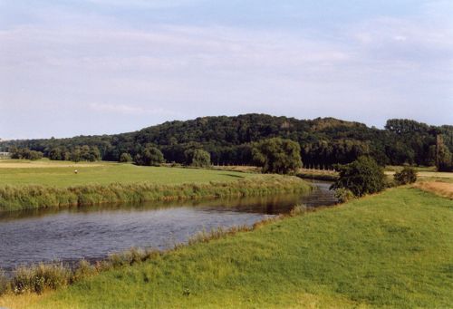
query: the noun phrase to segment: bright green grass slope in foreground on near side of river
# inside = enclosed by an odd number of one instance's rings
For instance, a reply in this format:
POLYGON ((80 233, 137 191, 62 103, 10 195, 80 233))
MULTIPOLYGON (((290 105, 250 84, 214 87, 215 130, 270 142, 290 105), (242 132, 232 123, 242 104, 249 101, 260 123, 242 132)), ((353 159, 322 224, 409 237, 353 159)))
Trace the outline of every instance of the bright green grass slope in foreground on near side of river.
POLYGON ((392 188, 0 306, 448 308, 452 221, 453 201, 392 188))

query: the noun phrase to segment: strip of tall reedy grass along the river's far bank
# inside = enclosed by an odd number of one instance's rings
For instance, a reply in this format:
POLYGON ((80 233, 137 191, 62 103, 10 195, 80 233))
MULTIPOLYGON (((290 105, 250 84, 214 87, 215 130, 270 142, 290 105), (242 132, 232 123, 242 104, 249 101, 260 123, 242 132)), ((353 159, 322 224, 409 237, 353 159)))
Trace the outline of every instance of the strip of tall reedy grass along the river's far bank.
MULTIPOLYGON (((171 169, 169 169, 171 170, 171 169)), ((264 196, 309 191, 301 179, 256 175, 230 181, 160 185, 151 182, 111 183, 68 188, 37 185, 0 186, 0 211, 193 198, 264 196)))

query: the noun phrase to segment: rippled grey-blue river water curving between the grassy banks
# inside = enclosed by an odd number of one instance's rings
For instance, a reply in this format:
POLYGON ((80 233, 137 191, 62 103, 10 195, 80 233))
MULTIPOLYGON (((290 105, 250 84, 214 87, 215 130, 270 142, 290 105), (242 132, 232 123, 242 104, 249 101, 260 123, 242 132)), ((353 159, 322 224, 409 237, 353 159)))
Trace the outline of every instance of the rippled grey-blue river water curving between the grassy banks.
POLYGON ((330 183, 314 184, 317 189, 304 195, 0 213, 0 268, 101 259, 132 246, 165 249, 202 230, 251 226, 296 204, 315 208, 336 203, 330 183))

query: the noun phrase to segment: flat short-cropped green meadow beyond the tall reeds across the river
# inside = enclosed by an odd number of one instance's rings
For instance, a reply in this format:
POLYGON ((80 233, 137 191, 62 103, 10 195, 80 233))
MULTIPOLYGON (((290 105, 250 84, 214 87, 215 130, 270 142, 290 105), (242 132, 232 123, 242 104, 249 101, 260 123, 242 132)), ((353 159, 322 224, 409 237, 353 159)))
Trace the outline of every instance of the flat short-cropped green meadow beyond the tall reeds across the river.
POLYGON ((167 167, 140 167, 132 164, 93 163, 59 165, 49 161, 23 163, 4 162, 0 168, 0 185, 42 185, 69 187, 77 185, 103 185, 112 182, 133 183, 148 181, 156 184, 206 183, 209 181, 233 181, 257 177, 234 171, 213 169, 181 169, 167 167), (22 166, 24 165, 24 168, 22 166), (14 166, 13 168, 7 168, 14 166), (25 167, 26 166, 26 167, 25 167), (34 168, 34 166, 37 166, 34 168), (78 173, 74 173, 77 169, 78 173))

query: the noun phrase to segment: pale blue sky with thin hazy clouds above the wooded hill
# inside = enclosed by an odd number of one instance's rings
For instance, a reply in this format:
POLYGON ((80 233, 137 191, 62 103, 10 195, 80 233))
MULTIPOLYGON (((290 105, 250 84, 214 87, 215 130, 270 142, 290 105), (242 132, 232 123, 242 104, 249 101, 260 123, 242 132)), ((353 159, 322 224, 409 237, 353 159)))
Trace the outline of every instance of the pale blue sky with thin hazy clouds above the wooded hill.
POLYGON ((453 1, 0 0, 0 139, 249 112, 453 124, 453 1))

